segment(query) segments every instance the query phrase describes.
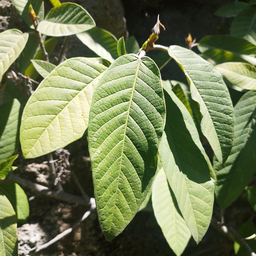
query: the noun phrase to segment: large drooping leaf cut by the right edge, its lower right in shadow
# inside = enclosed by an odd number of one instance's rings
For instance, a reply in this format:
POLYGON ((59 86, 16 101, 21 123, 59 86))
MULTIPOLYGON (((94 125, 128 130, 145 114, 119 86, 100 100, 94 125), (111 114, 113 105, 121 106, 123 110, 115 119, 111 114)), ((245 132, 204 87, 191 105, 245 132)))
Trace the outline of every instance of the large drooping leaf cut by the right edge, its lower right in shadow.
POLYGON ((256 91, 244 94, 234 107, 235 136, 226 163, 216 159, 215 195, 219 206, 228 207, 242 193, 256 169, 256 91), (246 171, 245 171, 246 170, 246 171))

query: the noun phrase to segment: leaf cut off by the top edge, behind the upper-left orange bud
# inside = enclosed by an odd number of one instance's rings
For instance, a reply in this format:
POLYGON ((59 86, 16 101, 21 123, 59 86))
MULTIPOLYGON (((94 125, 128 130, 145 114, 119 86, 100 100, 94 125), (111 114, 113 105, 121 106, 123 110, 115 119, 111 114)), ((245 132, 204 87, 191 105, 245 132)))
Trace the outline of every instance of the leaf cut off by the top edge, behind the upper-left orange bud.
POLYGON ((44 20, 44 0, 13 0, 13 3, 19 15, 31 28, 34 28, 34 26, 28 18, 28 7, 30 4, 32 5, 36 15, 39 17, 38 21, 41 22, 44 20))

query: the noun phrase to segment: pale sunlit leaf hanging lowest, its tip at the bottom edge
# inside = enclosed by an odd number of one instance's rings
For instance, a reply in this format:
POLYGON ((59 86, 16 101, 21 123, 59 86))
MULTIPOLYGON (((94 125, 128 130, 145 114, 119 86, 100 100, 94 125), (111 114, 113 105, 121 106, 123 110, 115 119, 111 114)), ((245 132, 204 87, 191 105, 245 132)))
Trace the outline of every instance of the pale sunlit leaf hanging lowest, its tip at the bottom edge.
POLYGON ((156 175, 152 187, 152 204, 157 223, 170 248, 179 256, 186 248, 191 233, 179 211, 163 168, 156 175))

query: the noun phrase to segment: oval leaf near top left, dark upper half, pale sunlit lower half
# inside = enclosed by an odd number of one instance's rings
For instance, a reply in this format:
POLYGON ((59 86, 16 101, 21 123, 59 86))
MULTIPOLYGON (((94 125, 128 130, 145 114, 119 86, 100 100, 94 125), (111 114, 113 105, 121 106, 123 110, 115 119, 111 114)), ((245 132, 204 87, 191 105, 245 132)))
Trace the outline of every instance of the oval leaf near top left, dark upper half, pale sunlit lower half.
POLYGON ((93 27, 95 22, 87 10, 78 4, 63 3, 50 10, 37 30, 47 36, 70 36, 93 27))

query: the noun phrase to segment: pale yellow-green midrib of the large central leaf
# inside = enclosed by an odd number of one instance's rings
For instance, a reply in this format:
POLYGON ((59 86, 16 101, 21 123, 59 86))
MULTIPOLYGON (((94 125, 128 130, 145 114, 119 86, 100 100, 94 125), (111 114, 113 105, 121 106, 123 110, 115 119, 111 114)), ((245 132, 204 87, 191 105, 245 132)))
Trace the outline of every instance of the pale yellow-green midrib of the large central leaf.
MULTIPOLYGON (((119 178, 120 178, 121 166, 122 166, 122 158, 123 158, 123 152, 124 152, 124 140, 125 140, 125 135, 126 135, 126 127, 127 127, 127 123, 128 123, 128 119, 129 119, 129 114, 130 114, 130 109, 131 109, 131 104, 132 104, 132 98, 133 98, 133 92, 135 90, 135 84, 136 84, 136 80, 137 80, 137 77, 138 77, 140 64, 141 64, 141 58, 138 59, 138 64, 137 64, 136 73, 135 73, 134 82, 133 82, 133 87, 132 87, 131 99, 130 99, 129 106, 128 106, 128 111, 127 111, 127 117, 126 117, 126 122, 125 122, 125 127, 124 127, 123 146, 122 146, 122 152, 121 152, 121 160, 120 160, 120 167, 119 167, 119 174, 118 174, 117 184, 119 184, 119 178)), ((118 189, 119 189, 119 187, 116 186, 114 206, 116 205, 116 195, 117 195, 117 190, 118 189)), ((112 214, 111 224, 113 224, 113 215, 114 215, 114 212, 112 214)), ((112 225, 111 225, 110 231, 111 230, 112 230, 112 225)))

